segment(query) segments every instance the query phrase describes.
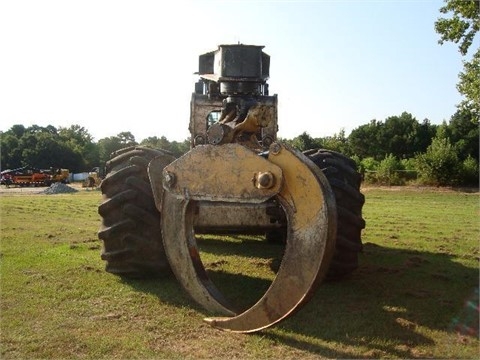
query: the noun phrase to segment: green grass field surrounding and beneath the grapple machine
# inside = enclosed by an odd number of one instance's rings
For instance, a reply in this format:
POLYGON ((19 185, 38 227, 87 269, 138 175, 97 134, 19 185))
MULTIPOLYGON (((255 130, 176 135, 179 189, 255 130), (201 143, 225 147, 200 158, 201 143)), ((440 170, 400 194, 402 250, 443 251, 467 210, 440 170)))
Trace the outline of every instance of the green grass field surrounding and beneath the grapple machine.
MULTIPOLYGON (((286 321, 244 335, 205 324, 209 314, 172 277, 106 273, 98 191, 2 193, 1 358, 478 358, 479 194, 364 194, 360 268, 322 284, 286 321)), ((282 252, 250 237, 199 243, 240 307, 265 291, 282 252)))

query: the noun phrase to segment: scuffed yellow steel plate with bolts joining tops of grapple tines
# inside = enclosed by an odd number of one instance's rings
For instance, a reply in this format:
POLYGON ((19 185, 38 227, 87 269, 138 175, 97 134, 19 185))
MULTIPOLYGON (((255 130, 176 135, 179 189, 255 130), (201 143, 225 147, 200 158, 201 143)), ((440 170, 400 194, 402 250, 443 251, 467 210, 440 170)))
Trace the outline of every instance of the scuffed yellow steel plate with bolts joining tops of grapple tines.
POLYGON ((280 191, 281 181, 258 188, 252 179, 259 172, 282 178, 277 165, 242 145, 203 145, 163 169, 164 187, 190 200, 261 203, 280 191), (172 178, 175 181, 170 181, 172 178))

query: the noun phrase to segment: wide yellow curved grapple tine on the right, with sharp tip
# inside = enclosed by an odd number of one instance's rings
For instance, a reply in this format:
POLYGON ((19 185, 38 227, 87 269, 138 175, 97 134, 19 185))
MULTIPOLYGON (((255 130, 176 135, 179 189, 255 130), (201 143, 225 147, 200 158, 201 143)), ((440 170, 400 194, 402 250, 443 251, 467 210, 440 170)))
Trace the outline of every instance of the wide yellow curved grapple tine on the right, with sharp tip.
POLYGON ((305 304, 328 270, 335 249, 335 198, 318 168, 300 153, 271 154, 283 170, 280 200, 288 220, 285 254, 264 296, 230 318, 207 318, 210 325, 234 332, 255 332, 287 318, 305 304))

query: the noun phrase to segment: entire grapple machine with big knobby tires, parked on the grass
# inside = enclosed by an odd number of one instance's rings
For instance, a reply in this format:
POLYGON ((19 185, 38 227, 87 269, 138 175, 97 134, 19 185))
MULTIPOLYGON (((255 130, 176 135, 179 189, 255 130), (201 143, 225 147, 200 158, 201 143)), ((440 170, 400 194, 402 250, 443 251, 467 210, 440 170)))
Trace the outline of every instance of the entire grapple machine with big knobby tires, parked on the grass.
MULTIPOLYGON (((254 332, 285 319, 328 276, 358 266, 364 196, 355 162, 277 141, 277 95, 269 95, 263 46, 221 45, 199 58, 191 98, 191 150, 175 159, 136 146, 112 154, 99 206, 106 270, 121 276, 172 271, 205 319, 254 332), (237 314, 209 279, 198 233, 263 234, 285 241, 275 279, 237 314)), ((269 246, 266 244, 266 246, 269 246)))

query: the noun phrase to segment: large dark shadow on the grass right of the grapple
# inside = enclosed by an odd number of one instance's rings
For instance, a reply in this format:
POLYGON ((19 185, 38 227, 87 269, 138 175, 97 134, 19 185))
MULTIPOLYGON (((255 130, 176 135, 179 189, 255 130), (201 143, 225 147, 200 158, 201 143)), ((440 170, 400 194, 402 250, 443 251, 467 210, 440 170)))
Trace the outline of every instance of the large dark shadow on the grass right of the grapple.
POLYGON ((327 357, 352 354, 332 352, 289 334, 364 346, 370 349, 367 357, 416 357, 411 348, 435 343, 434 338, 420 334, 420 328, 427 330, 423 334, 455 331, 465 325, 478 331, 478 298, 477 308, 465 312, 478 280, 478 271, 450 255, 367 243, 361 265, 349 279, 324 283, 295 317, 279 325, 286 334, 269 336, 327 357))

